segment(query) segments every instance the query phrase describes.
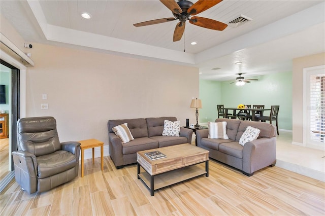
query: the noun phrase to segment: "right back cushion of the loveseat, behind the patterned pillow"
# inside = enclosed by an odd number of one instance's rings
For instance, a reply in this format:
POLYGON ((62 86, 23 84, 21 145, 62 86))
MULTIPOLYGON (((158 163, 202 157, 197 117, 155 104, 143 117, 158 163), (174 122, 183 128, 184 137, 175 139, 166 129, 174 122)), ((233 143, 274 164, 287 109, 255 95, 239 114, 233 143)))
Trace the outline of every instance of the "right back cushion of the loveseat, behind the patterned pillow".
POLYGON ((276 136, 276 127, 268 122, 242 121, 238 128, 236 141, 239 141, 247 126, 251 126, 261 130, 261 132, 259 132, 258 134, 258 139, 262 137, 272 138, 276 136))

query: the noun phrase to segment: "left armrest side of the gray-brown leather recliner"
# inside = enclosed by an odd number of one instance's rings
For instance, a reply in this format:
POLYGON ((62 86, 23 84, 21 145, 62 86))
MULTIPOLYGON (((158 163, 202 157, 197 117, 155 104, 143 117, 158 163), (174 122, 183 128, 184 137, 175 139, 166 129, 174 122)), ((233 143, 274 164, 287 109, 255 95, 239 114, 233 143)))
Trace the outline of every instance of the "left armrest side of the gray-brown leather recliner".
POLYGON ((29 194, 37 191, 36 156, 25 151, 11 153, 15 165, 16 182, 29 194))

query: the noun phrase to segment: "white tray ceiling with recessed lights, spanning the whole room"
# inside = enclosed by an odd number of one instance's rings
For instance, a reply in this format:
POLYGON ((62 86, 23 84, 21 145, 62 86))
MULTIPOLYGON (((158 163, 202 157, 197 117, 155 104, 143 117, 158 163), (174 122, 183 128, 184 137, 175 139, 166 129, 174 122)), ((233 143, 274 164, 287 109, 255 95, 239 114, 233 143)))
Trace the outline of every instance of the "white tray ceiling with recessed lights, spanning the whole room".
POLYGON ((177 21, 133 26, 173 17, 159 1, 1 0, 0 6, 1 15, 27 42, 196 66, 203 73, 201 79, 222 81, 235 79, 237 73, 249 78, 291 71, 293 58, 325 52, 324 1, 225 0, 197 16, 229 23, 245 15, 252 21, 223 31, 186 22, 185 37, 179 42, 172 40, 177 21), (92 19, 83 19, 83 12, 92 19), (198 44, 190 45, 192 41, 198 44), (237 61, 243 63, 234 64, 237 61))

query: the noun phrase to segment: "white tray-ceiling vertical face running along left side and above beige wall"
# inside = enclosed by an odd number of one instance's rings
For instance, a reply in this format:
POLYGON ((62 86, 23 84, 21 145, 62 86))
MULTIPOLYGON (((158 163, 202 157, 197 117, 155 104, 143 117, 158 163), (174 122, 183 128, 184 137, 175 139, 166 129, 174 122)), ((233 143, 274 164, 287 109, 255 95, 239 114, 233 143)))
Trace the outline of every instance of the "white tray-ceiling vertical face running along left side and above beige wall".
POLYGON ((147 58, 157 58, 176 61, 185 64, 194 64, 194 54, 166 48, 160 48, 141 43, 116 39, 100 34, 89 33, 70 28, 59 27, 47 23, 39 1, 28 0, 29 7, 34 13, 45 38, 49 41, 79 45, 107 51, 126 53, 147 58))

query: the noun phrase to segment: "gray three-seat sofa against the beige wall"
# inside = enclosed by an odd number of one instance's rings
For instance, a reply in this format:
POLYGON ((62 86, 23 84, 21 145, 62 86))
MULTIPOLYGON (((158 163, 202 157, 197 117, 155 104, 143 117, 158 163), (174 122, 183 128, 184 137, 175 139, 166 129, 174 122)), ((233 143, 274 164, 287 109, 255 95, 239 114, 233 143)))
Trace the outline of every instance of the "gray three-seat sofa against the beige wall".
POLYGON ((109 154, 116 168, 136 163, 139 151, 191 143, 193 131, 183 127, 180 127, 179 136, 162 136, 165 120, 177 121, 176 117, 109 120, 107 124, 109 154), (124 123, 127 123, 135 139, 122 144, 112 128, 124 123))

